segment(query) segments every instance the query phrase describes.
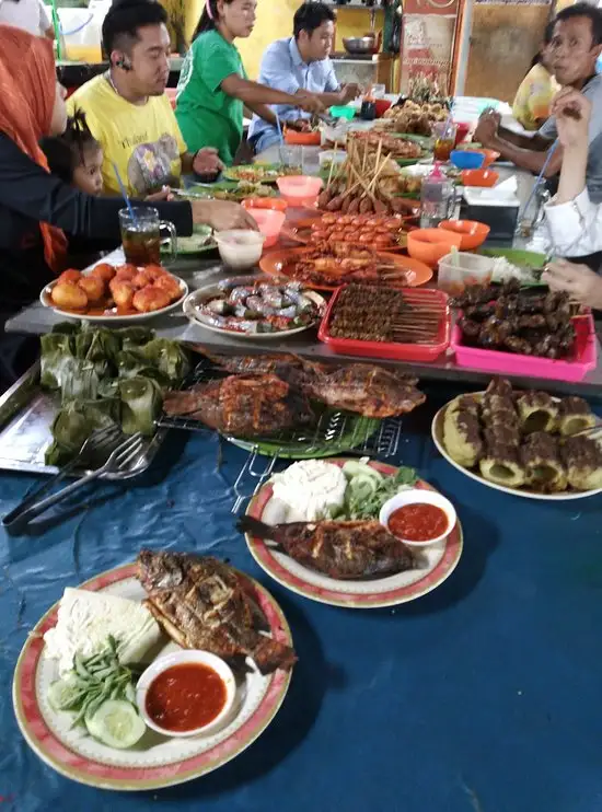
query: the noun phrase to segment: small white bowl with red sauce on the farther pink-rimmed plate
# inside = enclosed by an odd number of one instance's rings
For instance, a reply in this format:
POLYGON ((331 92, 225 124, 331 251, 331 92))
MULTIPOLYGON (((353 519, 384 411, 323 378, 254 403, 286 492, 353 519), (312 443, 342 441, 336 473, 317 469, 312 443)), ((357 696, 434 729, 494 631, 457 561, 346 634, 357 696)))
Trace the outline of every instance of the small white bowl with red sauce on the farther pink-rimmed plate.
POLYGON ((379 519, 404 544, 424 547, 443 541, 454 529, 456 514, 453 504, 441 494, 412 488, 385 502, 379 519))

